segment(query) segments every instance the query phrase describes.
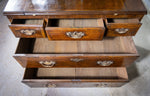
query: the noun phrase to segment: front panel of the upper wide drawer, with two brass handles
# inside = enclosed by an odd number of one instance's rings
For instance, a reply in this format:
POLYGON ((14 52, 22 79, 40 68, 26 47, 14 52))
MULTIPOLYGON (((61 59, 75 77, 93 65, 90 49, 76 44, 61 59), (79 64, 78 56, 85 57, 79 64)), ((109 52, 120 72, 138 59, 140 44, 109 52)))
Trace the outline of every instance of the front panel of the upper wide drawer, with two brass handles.
POLYGON ((26 68, 40 67, 121 67, 134 62, 133 56, 14 56, 26 68))

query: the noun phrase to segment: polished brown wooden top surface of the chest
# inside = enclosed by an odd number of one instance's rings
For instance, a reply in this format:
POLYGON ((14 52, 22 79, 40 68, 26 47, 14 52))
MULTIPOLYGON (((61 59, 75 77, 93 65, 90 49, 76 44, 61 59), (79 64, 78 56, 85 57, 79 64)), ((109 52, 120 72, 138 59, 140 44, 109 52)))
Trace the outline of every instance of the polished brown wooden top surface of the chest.
POLYGON ((62 14, 146 14, 141 0, 9 0, 5 15, 62 14))

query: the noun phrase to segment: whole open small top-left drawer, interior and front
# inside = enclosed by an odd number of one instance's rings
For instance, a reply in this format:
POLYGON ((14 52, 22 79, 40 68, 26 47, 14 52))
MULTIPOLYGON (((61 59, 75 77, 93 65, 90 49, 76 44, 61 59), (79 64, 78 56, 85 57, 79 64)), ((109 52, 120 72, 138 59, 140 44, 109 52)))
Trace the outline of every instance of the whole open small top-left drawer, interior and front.
POLYGON ((42 19, 13 19, 9 28, 16 37, 43 38, 45 37, 45 22, 42 19))

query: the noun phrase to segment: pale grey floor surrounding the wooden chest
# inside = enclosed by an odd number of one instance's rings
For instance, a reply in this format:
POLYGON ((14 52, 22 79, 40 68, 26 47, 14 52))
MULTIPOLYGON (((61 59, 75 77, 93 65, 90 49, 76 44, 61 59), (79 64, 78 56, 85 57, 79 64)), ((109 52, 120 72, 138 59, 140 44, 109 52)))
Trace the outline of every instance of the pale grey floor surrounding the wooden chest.
POLYGON ((6 0, 0 0, 0 96, 150 96, 150 19, 144 16, 134 38, 140 54, 127 68, 130 82, 119 88, 29 88, 21 83, 24 69, 14 60, 18 39, 2 15, 6 0))

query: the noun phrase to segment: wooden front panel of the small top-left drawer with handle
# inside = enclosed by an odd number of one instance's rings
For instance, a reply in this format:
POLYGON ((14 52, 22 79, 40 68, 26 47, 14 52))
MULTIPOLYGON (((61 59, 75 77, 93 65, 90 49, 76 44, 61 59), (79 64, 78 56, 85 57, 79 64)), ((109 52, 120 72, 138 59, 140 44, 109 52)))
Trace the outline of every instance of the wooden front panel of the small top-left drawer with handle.
POLYGON ((45 37, 44 28, 42 26, 28 26, 28 25, 9 25, 16 37, 22 38, 43 38, 45 37))

